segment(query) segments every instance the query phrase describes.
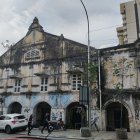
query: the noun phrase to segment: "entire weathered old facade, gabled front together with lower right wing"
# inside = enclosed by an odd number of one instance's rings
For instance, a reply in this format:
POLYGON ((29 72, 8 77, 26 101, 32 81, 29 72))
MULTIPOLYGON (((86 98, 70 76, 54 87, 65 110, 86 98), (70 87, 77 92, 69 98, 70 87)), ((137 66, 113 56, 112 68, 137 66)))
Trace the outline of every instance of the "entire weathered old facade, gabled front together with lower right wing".
MULTIPOLYGON (((139 50, 138 40, 100 49, 98 58, 96 49, 90 51, 91 62, 101 60, 101 83, 95 88, 95 82, 90 94, 91 120, 99 116, 103 130, 140 130, 139 50)), ((80 127, 88 113, 79 104, 79 87, 89 80, 87 55, 86 45, 44 32, 35 18, 26 36, 0 57, 1 113, 33 113, 38 126, 48 112, 53 121, 62 118, 69 128, 80 127)))

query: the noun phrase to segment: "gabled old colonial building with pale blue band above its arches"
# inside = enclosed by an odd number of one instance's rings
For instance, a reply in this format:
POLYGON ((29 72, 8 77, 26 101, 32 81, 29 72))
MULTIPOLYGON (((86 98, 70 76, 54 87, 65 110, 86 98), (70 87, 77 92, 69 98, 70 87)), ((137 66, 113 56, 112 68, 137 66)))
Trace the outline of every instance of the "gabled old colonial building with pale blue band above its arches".
POLYGON ((1 113, 33 113, 40 125, 48 112, 51 120, 77 127, 86 118, 79 104, 84 63, 86 45, 44 32, 34 18, 25 37, 0 57, 1 113))

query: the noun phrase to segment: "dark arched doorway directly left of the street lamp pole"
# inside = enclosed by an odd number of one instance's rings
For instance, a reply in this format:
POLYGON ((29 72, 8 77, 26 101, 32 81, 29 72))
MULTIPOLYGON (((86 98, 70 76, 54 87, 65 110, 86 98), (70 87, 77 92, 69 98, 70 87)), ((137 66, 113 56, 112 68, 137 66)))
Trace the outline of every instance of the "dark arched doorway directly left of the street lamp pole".
POLYGON ((80 129, 86 125, 86 107, 78 102, 71 103, 66 110, 66 124, 68 128, 80 129))

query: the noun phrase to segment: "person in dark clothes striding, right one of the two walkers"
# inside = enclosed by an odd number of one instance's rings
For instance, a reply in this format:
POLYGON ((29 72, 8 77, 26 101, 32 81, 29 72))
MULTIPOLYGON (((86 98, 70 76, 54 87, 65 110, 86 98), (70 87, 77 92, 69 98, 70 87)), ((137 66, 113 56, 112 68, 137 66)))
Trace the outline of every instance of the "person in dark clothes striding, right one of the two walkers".
POLYGON ((49 129, 49 114, 46 113, 45 117, 44 117, 44 121, 43 121, 43 127, 41 129, 41 133, 43 134, 43 131, 45 129, 45 127, 47 127, 48 133, 50 133, 50 129, 49 129))

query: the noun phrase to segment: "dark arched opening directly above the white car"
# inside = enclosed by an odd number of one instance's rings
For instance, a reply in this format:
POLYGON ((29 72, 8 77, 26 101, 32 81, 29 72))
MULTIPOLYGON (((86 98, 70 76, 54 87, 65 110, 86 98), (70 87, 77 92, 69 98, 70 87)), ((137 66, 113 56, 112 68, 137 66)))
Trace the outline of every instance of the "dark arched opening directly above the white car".
POLYGON ((18 102, 14 102, 14 103, 11 103, 9 105, 7 113, 8 114, 11 114, 11 113, 19 113, 19 114, 21 114, 21 110, 22 110, 21 104, 18 103, 18 102))

